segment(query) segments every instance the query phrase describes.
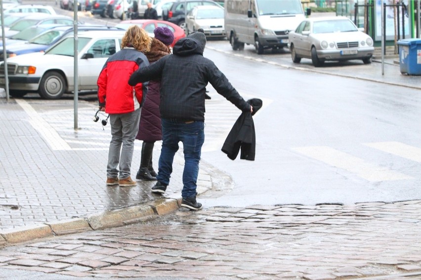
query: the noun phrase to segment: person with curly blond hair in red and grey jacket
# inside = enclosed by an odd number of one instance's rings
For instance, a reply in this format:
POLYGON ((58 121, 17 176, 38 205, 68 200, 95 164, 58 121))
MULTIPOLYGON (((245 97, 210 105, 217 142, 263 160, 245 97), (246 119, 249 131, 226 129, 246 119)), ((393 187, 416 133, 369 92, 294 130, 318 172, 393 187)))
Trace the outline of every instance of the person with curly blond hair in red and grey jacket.
POLYGON ((143 52, 150 50, 151 38, 146 31, 133 25, 123 36, 121 48, 106 61, 97 85, 99 108, 110 116, 112 135, 106 184, 126 187, 136 185, 130 177, 130 166, 140 108, 148 92, 147 82, 130 86, 127 81, 131 73, 149 66, 143 52))

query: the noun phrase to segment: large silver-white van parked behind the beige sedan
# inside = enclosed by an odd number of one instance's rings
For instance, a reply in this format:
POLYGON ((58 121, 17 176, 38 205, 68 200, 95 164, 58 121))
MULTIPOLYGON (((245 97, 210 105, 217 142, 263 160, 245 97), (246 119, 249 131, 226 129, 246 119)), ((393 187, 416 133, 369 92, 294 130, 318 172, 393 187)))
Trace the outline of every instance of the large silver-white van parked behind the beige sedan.
POLYGON ((286 47, 290 31, 305 19, 300 0, 225 0, 224 7, 232 49, 253 44, 258 54, 267 48, 286 47))

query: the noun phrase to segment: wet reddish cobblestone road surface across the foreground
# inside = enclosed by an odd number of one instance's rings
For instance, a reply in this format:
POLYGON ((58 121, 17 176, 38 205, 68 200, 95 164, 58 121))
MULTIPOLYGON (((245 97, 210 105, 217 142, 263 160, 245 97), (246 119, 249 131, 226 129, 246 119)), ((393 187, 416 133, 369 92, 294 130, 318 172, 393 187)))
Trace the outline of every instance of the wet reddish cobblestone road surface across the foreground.
POLYGON ((421 279, 420 213, 421 201, 179 210, 142 224, 6 247, 0 274, 421 279))

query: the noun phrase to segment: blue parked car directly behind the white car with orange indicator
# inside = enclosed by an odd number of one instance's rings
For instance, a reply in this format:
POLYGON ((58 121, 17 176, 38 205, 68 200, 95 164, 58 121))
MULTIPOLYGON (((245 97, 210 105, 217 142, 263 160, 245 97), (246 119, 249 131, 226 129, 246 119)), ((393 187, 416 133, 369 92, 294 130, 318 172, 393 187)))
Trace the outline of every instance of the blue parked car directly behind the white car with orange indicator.
MULTIPOLYGON (((35 38, 29 40, 23 44, 17 44, 7 47, 6 55, 7 58, 15 57, 18 55, 32 53, 32 52, 43 52, 50 46, 54 45, 56 42, 61 40, 63 37, 68 36, 69 34, 73 34, 74 27, 73 26, 56 26, 51 28, 42 34, 36 36, 35 38)), ((87 30, 124 30, 115 27, 107 27, 107 26, 94 26, 94 25, 80 25, 78 26, 78 34, 79 32, 87 31, 87 30)), ((3 61, 3 52, 1 50, 0 53, 0 61, 3 61)))

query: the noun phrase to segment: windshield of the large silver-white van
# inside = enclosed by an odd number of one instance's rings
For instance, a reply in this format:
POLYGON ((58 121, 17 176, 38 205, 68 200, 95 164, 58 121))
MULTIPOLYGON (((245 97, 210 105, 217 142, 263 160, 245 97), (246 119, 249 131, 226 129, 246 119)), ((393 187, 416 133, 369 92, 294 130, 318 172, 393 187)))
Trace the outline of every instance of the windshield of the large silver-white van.
POLYGON ((296 0, 256 0, 259 15, 302 14, 300 1, 296 0))

